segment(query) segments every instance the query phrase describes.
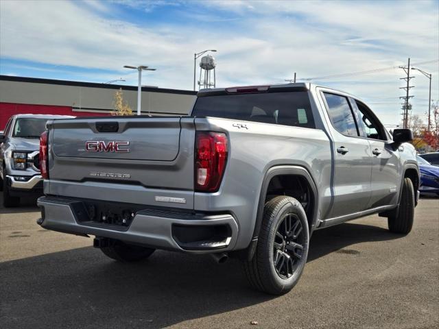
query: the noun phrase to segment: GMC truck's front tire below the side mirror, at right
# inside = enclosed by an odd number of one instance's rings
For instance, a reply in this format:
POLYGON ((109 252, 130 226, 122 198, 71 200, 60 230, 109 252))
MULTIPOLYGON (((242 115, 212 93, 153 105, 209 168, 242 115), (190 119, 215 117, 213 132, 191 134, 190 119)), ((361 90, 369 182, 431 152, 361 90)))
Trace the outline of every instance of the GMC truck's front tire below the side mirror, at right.
POLYGON ((414 188, 410 178, 404 178, 399 211, 388 217, 390 232, 409 234, 414 222, 414 188))

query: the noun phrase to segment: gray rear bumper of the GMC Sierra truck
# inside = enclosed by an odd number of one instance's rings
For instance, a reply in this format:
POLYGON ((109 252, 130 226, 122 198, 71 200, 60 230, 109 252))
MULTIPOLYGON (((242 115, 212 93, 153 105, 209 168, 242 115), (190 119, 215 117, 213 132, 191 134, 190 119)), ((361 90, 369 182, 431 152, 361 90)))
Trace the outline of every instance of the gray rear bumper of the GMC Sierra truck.
POLYGON ((145 208, 136 212, 130 226, 114 228, 82 220, 80 216, 84 214, 80 210, 78 212, 78 202, 80 203, 76 199, 40 197, 37 203, 41 208, 42 218, 37 222, 48 230, 78 235, 91 234, 156 249, 195 254, 230 251, 237 242, 238 226, 230 214, 191 214, 145 208), (200 230, 220 231, 222 234, 212 234, 209 239, 197 240, 200 230))

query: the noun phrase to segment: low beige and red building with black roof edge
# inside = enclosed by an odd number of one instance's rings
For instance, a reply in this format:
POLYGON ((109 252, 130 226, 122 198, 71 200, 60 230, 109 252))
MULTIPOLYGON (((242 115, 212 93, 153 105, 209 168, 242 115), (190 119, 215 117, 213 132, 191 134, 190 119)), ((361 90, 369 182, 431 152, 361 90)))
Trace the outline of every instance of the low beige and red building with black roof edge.
MULTIPOLYGON (((0 75, 0 130, 13 114, 66 114, 75 117, 111 115, 115 91, 137 109, 137 86, 96 84, 64 80, 0 75)), ((142 114, 185 115, 195 92, 165 88, 142 88, 142 114)))

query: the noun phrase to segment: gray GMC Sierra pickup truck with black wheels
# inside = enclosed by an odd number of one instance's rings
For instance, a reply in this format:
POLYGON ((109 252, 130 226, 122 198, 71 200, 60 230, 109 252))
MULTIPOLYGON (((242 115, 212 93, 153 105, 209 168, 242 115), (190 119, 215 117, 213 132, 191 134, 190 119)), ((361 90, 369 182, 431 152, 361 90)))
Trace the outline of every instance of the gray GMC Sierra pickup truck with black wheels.
POLYGON ((374 213, 412 230, 411 140, 357 97, 312 84, 202 90, 188 117, 49 121, 38 223, 94 235, 121 261, 155 249, 235 256, 252 287, 281 294, 314 230, 374 213))

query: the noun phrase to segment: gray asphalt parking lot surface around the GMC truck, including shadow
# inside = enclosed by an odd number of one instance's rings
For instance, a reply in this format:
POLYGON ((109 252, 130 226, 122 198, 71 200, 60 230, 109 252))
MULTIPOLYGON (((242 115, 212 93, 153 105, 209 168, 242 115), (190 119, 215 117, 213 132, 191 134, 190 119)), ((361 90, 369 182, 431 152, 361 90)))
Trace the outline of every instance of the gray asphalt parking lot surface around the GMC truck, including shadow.
POLYGON ((92 239, 41 229, 38 215, 32 199, 0 208, 0 328, 439 326, 437 198, 420 200, 408 236, 377 216, 316 232, 281 297, 252 291, 237 260, 159 251, 120 264, 92 239))

